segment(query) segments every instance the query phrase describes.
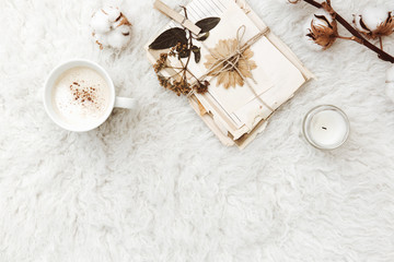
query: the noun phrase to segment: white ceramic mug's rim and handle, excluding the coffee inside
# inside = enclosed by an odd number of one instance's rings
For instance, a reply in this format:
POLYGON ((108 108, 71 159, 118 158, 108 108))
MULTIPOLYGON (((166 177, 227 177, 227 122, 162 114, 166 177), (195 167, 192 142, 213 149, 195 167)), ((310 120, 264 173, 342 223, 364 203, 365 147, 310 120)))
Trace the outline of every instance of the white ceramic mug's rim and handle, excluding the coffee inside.
POLYGON ((59 127, 61 127, 66 130, 69 130, 69 131, 86 132, 86 131, 93 130, 93 129, 100 127, 102 123, 104 123, 108 119, 114 107, 134 109, 137 107, 137 100, 134 98, 117 97, 115 95, 115 86, 114 86, 112 79, 109 78, 109 74, 101 66, 99 66, 95 62, 89 61, 89 60, 76 59, 76 60, 71 60, 71 61, 61 63, 60 66, 56 67, 50 72, 49 76, 47 78, 47 80, 45 82, 44 106, 45 106, 45 110, 49 115, 50 119, 55 123, 57 123, 59 127), (77 124, 65 121, 58 115, 58 112, 55 110, 55 105, 54 105, 53 98, 51 98, 53 92, 54 92, 54 86, 55 86, 57 80, 59 79, 59 76, 67 70, 76 68, 76 67, 86 67, 86 68, 93 69, 94 71, 96 71, 99 74, 101 74, 104 78, 104 80, 106 81, 106 83, 109 87, 109 96, 111 96, 108 99, 109 105, 108 105, 106 111, 103 114, 103 117, 99 118, 97 121, 94 121, 91 124, 84 126, 84 127, 79 127, 77 124))

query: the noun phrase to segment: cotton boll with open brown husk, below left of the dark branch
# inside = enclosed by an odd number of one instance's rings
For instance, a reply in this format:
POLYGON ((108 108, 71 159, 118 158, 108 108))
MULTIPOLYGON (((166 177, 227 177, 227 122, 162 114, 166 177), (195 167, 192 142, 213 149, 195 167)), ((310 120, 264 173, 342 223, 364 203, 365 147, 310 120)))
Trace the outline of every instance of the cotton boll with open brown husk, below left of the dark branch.
POLYGON ((338 38, 337 22, 328 12, 322 10, 313 15, 311 23, 306 26, 305 35, 310 44, 325 50, 338 38))

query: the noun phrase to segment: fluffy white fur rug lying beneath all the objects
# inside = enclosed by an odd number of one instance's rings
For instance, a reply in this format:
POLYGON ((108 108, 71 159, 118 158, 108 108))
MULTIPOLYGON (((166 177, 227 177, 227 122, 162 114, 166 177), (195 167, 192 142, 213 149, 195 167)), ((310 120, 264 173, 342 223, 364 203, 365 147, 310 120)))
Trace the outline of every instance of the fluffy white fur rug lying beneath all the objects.
MULTIPOLYGON (((391 0, 333 5, 351 20, 368 2, 394 9, 391 0)), ((91 41, 101 1, 0 1, 1 262, 394 261, 389 64, 354 43, 310 51, 301 40, 310 5, 250 3, 317 80, 240 152, 159 86, 142 47, 167 19, 152 0, 119 3, 134 37, 118 56, 91 41), (116 109, 89 133, 59 129, 44 110, 43 83, 72 58, 97 61, 141 107, 116 109), (300 132, 321 104, 351 120, 350 140, 334 152, 300 132)), ((394 36, 385 46, 394 53, 394 36)))

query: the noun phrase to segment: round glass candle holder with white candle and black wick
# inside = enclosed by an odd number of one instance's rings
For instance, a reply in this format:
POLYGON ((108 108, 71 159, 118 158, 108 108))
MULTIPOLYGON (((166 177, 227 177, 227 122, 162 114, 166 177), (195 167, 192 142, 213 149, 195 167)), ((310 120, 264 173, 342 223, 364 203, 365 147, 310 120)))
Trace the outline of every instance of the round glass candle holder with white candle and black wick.
POLYGON ((311 109, 302 123, 306 141, 318 150, 341 146, 350 133, 350 122, 338 107, 324 105, 311 109))

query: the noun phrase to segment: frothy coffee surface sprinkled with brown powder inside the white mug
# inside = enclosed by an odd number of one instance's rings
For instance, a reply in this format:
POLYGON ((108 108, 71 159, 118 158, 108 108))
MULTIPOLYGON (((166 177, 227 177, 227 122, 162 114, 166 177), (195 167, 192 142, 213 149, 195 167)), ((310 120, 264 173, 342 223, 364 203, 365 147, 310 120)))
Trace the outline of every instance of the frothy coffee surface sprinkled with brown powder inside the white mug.
POLYGON ((109 106, 109 86, 95 70, 77 67, 63 72, 54 85, 53 104, 71 124, 92 126, 109 106))

